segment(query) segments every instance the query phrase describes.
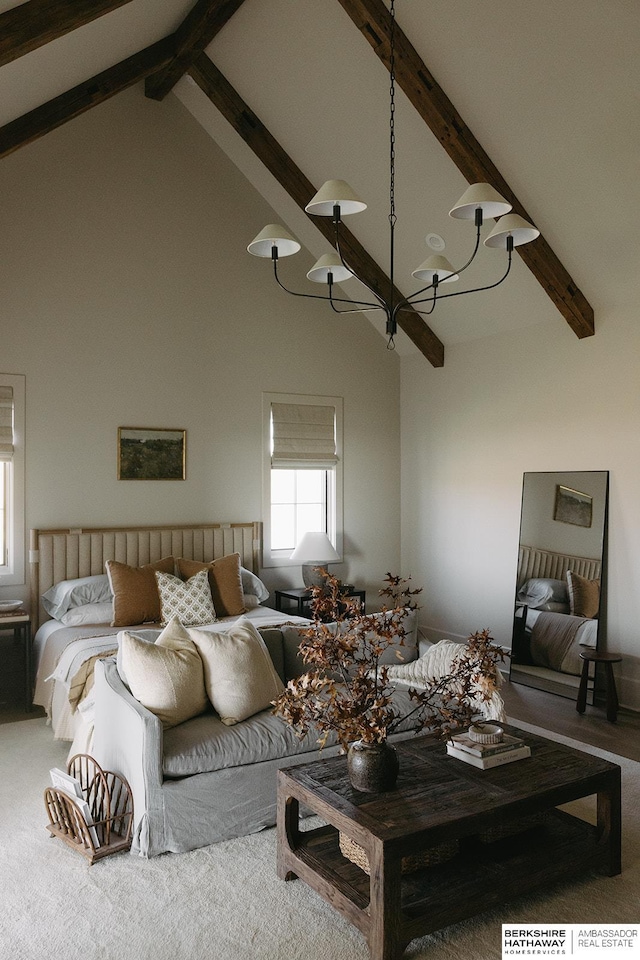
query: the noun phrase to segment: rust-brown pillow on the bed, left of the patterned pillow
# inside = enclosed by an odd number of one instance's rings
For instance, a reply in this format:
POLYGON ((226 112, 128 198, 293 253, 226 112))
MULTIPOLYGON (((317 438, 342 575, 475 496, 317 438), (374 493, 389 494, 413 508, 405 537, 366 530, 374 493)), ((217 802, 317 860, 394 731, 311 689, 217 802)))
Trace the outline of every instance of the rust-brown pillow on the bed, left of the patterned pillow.
POLYGON ((164 557, 142 567, 130 567, 107 560, 107 574, 113 593, 112 627, 130 627, 136 623, 160 620, 160 594, 156 570, 173 573, 173 557, 164 557))

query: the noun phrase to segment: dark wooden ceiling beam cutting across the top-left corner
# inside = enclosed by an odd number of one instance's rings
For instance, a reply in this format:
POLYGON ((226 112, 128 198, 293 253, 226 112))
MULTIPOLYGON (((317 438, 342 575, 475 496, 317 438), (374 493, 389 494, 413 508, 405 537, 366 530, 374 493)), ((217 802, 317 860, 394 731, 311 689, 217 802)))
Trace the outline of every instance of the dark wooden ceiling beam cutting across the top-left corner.
POLYGON ((0 14, 0 66, 131 0, 29 0, 0 14))

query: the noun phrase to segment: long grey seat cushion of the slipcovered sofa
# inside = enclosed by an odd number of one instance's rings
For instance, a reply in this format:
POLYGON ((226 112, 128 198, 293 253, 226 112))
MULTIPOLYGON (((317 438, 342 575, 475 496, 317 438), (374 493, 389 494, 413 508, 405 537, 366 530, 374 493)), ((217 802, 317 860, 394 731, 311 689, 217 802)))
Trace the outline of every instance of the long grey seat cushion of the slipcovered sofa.
MULTIPOLYGON (((403 712, 412 706, 406 691, 396 692, 394 702, 403 712)), ((411 721, 400 726, 401 731, 411 728, 411 721)), ((333 743, 335 737, 330 737, 327 745, 333 743)), ((163 771, 167 778, 188 777, 309 752, 310 759, 322 758, 317 735, 312 731, 300 740, 293 727, 271 710, 263 710, 235 726, 226 726, 219 716, 209 712, 165 731, 163 771)))

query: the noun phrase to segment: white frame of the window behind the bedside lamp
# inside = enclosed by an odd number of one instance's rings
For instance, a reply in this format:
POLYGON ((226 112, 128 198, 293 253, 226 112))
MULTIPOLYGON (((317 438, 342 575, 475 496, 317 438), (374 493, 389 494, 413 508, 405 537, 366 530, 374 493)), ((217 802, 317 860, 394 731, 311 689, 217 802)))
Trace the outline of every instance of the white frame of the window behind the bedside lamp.
MULTIPOLYGON (((307 396, 297 393, 262 394, 262 565, 263 567, 295 567, 289 551, 271 549, 271 404, 294 403, 309 406, 331 406, 335 411, 337 460, 330 469, 333 484, 327 490, 328 536, 342 559, 343 544, 343 402, 342 397, 307 396)), ((301 464, 301 467, 304 464, 301 464)), ((324 468, 322 468, 324 469, 324 468)), ((336 561, 337 563, 338 561, 336 561)))

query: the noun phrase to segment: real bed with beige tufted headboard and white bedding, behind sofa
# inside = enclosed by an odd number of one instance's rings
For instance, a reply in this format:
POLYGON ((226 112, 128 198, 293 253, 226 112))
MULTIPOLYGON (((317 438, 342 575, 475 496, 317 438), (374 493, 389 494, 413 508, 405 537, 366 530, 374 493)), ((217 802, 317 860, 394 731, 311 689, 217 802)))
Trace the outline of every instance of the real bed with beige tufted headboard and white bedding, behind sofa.
MULTIPOLYGON (((112 626, 112 584, 105 585, 110 561, 137 569, 162 558, 206 564, 237 554, 243 616, 265 627, 307 622, 265 606, 269 593, 258 577, 261 531, 255 521, 31 531, 31 610, 37 627, 33 702, 44 707, 56 739, 73 741, 74 750, 88 748, 92 698, 82 692, 90 688, 87 680, 95 659, 117 649, 118 633, 127 626, 135 626, 138 632, 143 629, 150 638, 161 629, 159 623, 140 621, 112 626)), ((212 617, 206 629, 225 629, 237 619, 237 615, 212 617)))

